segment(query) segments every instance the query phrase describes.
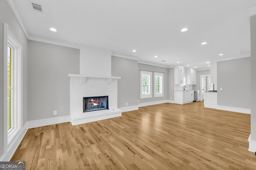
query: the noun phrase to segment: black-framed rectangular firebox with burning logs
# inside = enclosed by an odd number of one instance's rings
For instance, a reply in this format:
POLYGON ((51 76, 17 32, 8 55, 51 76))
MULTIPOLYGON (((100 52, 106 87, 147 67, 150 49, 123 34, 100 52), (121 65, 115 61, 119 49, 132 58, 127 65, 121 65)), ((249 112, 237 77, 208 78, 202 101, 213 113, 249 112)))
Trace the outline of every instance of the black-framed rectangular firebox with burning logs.
POLYGON ((108 96, 84 97, 83 111, 96 111, 108 109, 108 96))

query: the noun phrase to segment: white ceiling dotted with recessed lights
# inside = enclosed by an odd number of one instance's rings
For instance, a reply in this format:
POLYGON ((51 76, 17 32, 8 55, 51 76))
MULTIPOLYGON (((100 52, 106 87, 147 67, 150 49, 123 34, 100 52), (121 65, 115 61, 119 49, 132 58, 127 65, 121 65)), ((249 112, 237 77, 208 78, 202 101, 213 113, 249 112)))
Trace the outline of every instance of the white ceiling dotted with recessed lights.
POLYGON ((10 4, 29 39, 105 49, 138 57, 141 63, 168 67, 179 61, 207 68, 207 61, 250 57, 248 9, 256 6, 256 0, 10 0, 10 4), (33 10, 31 2, 41 4, 43 12, 33 10), (188 31, 181 32, 184 27, 188 31), (201 45, 204 41, 207 44, 201 45))

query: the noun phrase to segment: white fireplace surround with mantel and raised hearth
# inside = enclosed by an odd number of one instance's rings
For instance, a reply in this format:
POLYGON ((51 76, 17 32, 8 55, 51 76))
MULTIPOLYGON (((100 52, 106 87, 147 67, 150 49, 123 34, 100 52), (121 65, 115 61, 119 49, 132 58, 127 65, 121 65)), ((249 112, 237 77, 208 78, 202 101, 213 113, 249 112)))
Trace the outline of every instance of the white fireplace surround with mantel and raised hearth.
POLYGON ((117 108, 117 80, 112 76, 85 76, 68 74, 70 77, 70 117, 72 125, 122 116, 117 108), (109 109, 83 112, 83 98, 108 96, 109 109))

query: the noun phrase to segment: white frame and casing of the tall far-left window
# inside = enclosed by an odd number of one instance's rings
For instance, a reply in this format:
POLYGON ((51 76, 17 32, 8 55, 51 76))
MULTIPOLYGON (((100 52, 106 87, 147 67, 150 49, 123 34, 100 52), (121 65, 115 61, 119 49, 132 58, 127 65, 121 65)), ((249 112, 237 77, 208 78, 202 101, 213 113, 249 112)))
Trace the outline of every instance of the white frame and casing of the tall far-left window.
POLYGON ((18 38, 10 29, 7 23, 4 23, 4 147, 12 146, 15 142, 17 133, 22 127, 22 98, 23 98, 23 72, 22 72, 22 45, 18 38), (7 129, 7 55, 8 46, 12 48, 12 65, 13 65, 13 86, 12 86, 12 128, 7 129))

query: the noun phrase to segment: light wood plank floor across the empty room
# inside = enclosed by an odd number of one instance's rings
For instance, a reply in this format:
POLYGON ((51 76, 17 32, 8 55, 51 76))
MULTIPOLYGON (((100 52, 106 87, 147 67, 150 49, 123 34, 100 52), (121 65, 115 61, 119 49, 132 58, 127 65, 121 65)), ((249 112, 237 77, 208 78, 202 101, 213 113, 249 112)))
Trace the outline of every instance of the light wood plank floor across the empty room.
POLYGON ((250 115, 159 104, 122 117, 28 129, 11 161, 26 169, 256 169, 250 115))

